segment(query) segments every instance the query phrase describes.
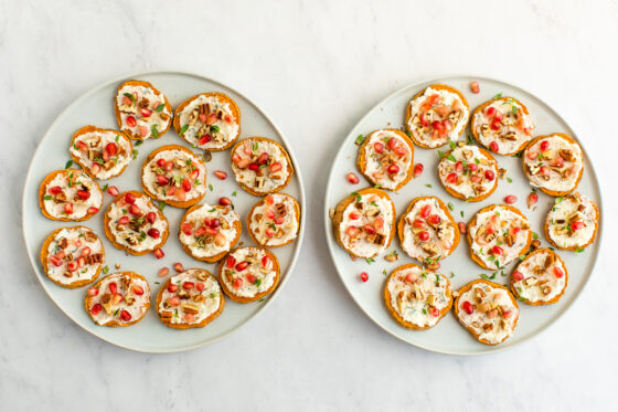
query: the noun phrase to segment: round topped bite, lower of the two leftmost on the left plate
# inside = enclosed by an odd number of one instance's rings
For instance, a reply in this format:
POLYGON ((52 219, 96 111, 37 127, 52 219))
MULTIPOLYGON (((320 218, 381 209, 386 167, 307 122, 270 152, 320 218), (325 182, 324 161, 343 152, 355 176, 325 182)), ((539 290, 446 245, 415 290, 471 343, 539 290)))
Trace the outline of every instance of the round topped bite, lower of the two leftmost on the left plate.
POLYGON ((105 250, 100 239, 88 228, 61 228, 43 243, 41 263, 50 281, 73 289, 98 277, 105 263, 105 250))

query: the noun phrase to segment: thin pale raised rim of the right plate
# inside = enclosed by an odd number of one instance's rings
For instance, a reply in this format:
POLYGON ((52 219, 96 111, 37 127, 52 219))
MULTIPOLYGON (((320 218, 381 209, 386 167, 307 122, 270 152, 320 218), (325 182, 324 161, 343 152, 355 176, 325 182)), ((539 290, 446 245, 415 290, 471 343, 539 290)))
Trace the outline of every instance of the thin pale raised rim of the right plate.
MULTIPOLYGON (((416 342, 411 342, 408 340, 405 340, 403 337, 399 337, 397 335, 395 335, 394 332, 392 332, 391 330, 388 330, 384 325, 382 325, 379 320, 376 320, 371 314, 369 314, 367 310, 365 310, 365 308, 363 307, 363 305, 361 305, 361 303, 359 302, 359 299, 356 298, 356 296, 354 295, 354 293, 352 293, 352 290, 350 289, 350 287, 348 287, 348 284, 343 281, 343 274, 338 270, 338 266, 335 264, 335 257, 334 257, 334 243, 335 241, 333 239, 331 239, 332 236, 332 220, 330 219, 330 205, 328 203, 329 200, 329 187, 331 184, 331 182, 333 181, 333 179, 335 179, 334 177, 334 167, 331 167, 329 176, 328 176, 328 180, 327 180, 327 184, 326 184, 326 190, 324 190, 324 210, 323 210, 323 220, 324 220, 324 235, 327 237, 327 245, 328 245, 328 250, 329 250, 329 254, 330 254, 330 258, 332 261, 332 264, 334 266, 334 270, 337 272, 337 275, 339 276, 339 279, 341 281, 341 283, 343 284, 343 287, 345 288, 345 290, 348 292, 348 294, 350 295, 350 297, 352 298, 352 300, 354 300, 354 303, 356 304, 356 306, 365 314, 366 317, 369 317, 376 326, 379 326, 382 330, 386 331, 388 335, 395 337, 396 339, 398 339, 399 341, 403 341, 406 345, 411 345, 413 347, 419 348, 419 349, 424 349, 430 352, 435 352, 435 353, 441 353, 441 355, 450 355, 450 356, 465 356, 465 357, 473 357, 473 356, 486 356, 486 355, 491 355, 491 353, 497 353, 497 352, 501 352, 504 350, 509 350, 512 349, 514 347, 519 347, 522 344, 529 342, 531 339, 537 337, 539 335, 543 334, 544 331, 546 331, 550 327, 552 327, 553 325, 555 325, 569 309, 572 306, 574 306, 574 304, 579 299, 579 296, 582 295, 582 293, 584 292, 584 289, 586 288, 588 282, 590 281, 590 277, 593 276, 593 273, 595 272, 596 267, 597 267, 597 263, 598 263, 598 257, 601 251, 601 246, 604 244, 603 240, 605 236, 605 230, 604 230, 604 225, 605 225, 605 219, 603 218, 604 215, 604 199, 603 199, 603 191, 601 191, 601 186, 599 184, 599 179, 597 176, 597 172, 593 166, 593 161, 592 158, 589 156, 589 151, 586 148, 586 145, 579 139, 579 136, 582 136, 578 130, 572 126, 571 123, 568 123, 555 108, 553 105, 551 105, 550 103, 547 103, 547 99, 541 98, 539 97, 535 93, 530 92, 528 88, 521 87, 519 84, 512 83, 512 82, 507 82, 504 80, 498 78, 498 77, 492 77, 492 76, 487 76, 483 74, 479 74, 479 75, 473 75, 473 74, 465 74, 465 73, 445 73, 445 74, 440 74, 437 76, 430 76, 430 77, 424 77, 419 81, 416 82, 412 82, 406 84, 403 87, 398 87, 397 89, 395 89, 394 92, 390 93, 388 95, 386 95, 386 97, 380 99, 376 104, 374 104, 373 106, 371 106, 371 108, 369 108, 364 115, 349 129, 349 133, 340 140, 340 141, 344 141, 345 139, 350 138, 350 135, 352 133, 352 130, 354 130, 356 127, 359 127, 363 122, 365 122, 365 119, 370 116, 370 114, 376 109, 377 107, 380 107, 381 105, 385 104, 386 102, 391 101, 392 98, 394 98, 397 94, 404 92, 405 89, 408 88, 414 88, 414 87, 422 87, 423 85, 425 85, 426 83, 440 83, 441 81, 447 81, 447 80, 452 80, 455 77, 461 77, 461 78, 470 78, 470 80, 475 80, 475 81, 490 81, 490 82, 496 82, 496 83, 501 83, 501 84, 505 84, 509 85, 512 88, 518 88, 529 95, 531 95, 532 97, 534 97, 535 99, 537 99, 539 102, 541 102, 544 106, 547 107, 547 109, 550 109, 553 115, 555 115, 556 117, 560 118, 560 120, 562 120, 571 130, 574 131, 575 136, 577 137, 577 142, 579 144, 579 146, 582 146, 582 149, 586 156, 586 158, 588 159, 588 162, 590 163, 590 167, 588 168, 587 172, 592 172, 594 180, 598 187, 598 193, 599 193, 599 198, 597 201, 597 207, 599 209, 599 226, 598 226, 598 233, 597 233, 597 237, 596 237, 596 243, 597 243, 597 251, 595 256, 593 257, 593 266, 588 273, 588 276, 584 279, 583 285, 579 287, 579 289, 576 292, 575 296, 573 297, 572 302, 569 304, 567 304, 563 310, 561 310, 555 317, 554 319, 548 323, 547 325, 545 325, 543 328, 541 328, 540 330, 537 330, 535 334, 524 338, 523 340, 514 344, 514 345, 508 345, 508 346, 500 346, 500 345, 496 345, 496 346, 488 346, 486 348, 486 350, 480 351, 480 352, 461 352, 461 351, 456 351, 456 350, 441 350, 441 349, 435 349, 431 348, 427 345, 422 345, 422 344, 416 344, 416 342), (333 243, 334 242, 334 243, 333 243)), ((466 125, 466 127, 468 127, 468 125, 466 125)), ((416 145, 415 145, 416 147, 416 145)), ((340 156, 344 156, 344 146, 341 145, 339 147, 339 150, 337 150, 337 154, 333 157, 333 163, 335 159, 339 159, 340 156)), ((457 320, 457 319, 456 319, 457 320)), ((482 345, 482 344, 479 344, 482 345)))

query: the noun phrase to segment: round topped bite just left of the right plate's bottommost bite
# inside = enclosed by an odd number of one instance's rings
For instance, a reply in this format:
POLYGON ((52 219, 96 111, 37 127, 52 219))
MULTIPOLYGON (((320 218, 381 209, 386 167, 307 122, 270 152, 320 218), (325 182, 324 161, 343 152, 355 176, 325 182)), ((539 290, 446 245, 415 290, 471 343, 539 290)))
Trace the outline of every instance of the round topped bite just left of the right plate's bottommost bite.
POLYGON ((450 310, 450 283, 437 272, 413 263, 403 265, 386 279, 384 303, 391 316, 404 328, 429 329, 450 310))

